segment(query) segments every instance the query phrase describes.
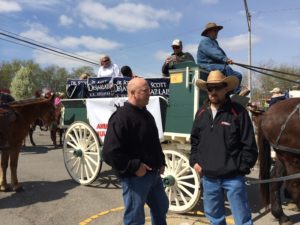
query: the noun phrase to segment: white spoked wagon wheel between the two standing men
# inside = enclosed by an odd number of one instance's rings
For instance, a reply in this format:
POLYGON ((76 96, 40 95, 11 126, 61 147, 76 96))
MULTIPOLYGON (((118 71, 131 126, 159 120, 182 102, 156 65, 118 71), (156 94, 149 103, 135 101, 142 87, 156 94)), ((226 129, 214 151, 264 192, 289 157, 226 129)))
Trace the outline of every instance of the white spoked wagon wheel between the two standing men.
POLYGON ((189 165, 188 157, 174 150, 164 150, 166 168, 162 175, 169 199, 169 210, 184 213, 193 209, 200 197, 200 177, 189 165))

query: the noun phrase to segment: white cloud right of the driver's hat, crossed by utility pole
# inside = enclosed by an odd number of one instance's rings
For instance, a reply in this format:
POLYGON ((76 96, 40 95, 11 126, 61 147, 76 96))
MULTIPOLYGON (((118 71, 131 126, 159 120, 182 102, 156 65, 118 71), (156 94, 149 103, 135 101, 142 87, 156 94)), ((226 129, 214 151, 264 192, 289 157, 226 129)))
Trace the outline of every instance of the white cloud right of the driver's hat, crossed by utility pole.
MULTIPOLYGON (((231 38, 223 38, 220 39, 220 46, 223 49, 229 50, 229 51, 241 51, 248 48, 249 45, 249 36, 248 34, 240 34, 231 38)), ((260 38, 254 34, 251 36, 251 42, 252 45, 259 43, 260 38)))

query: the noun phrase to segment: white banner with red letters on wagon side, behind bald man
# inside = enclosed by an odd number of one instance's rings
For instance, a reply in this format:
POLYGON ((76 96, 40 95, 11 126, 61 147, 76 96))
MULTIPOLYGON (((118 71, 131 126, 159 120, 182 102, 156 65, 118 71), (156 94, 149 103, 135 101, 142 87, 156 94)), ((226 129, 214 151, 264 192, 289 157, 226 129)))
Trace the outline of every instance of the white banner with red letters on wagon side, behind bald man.
MULTIPOLYGON (((163 128, 159 98, 160 97, 156 96, 150 97, 147 109, 155 119, 159 138, 162 140, 163 128)), ((108 120, 110 116, 116 111, 117 107, 123 106, 125 101, 127 101, 126 97, 98 99, 94 98, 86 100, 87 117, 89 123, 94 128, 102 142, 104 141, 106 135, 108 120)))

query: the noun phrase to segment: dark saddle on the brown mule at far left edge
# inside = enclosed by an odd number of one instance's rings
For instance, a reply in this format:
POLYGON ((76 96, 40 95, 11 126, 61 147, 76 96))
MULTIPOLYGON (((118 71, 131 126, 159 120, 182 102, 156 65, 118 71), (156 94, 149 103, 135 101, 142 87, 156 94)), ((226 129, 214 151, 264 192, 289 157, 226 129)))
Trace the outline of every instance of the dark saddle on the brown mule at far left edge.
POLYGON ((15 101, 15 99, 11 95, 0 93, 0 150, 6 150, 10 147, 9 122, 11 119, 11 114, 9 113, 9 108, 6 104, 13 101, 15 101))

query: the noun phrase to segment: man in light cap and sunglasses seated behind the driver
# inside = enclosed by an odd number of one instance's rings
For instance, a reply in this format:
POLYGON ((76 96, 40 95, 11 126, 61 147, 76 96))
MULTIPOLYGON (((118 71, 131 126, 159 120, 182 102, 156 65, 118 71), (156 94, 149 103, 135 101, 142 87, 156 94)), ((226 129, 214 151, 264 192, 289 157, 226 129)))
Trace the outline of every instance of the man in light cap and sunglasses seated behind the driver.
POLYGON ((182 62, 191 61, 195 63, 194 57, 189 52, 182 52, 182 41, 175 39, 172 42, 173 53, 168 56, 165 60, 164 65, 162 66, 162 73, 164 77, 169 77, 170 69, 175 69, 175 65, 182 62))

